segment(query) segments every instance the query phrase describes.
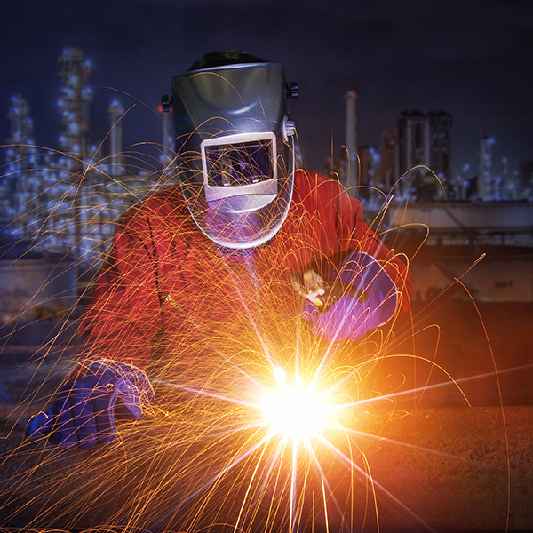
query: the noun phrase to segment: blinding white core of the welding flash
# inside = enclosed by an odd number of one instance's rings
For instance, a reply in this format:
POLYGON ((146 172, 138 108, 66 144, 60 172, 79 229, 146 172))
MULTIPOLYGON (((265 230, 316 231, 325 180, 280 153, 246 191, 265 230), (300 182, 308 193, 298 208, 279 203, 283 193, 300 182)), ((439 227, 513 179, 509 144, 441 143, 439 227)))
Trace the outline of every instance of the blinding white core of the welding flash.
POLYGON ((285 371, 274 369, 274 377, 280 389, 267 393, 261 403, 261 410, 267 424, 275 434, 286 438, 302 438, 313 434, 323 426, 330 416, 330 406, 319 395, 304 388, 301 378, 296 378, 294 386, 287 385, 285 371))

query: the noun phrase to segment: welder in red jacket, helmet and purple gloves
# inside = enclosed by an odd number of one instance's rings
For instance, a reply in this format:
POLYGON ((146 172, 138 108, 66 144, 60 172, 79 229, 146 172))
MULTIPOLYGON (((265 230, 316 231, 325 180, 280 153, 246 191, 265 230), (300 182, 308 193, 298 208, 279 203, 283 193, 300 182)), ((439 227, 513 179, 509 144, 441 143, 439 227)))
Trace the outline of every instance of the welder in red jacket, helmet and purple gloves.
POLYGON ((358 341, 409 310, 409 269, 359 200, 296 168, 297 96, 281 63, 246 52, 172 78, 179 184, 117 223, 79 328, 84 360, 28 435, 91 448, 115 437, 118 410, 143 416, 162 372, 199 390, 231 343, 266 350, 305 329, 358 341))

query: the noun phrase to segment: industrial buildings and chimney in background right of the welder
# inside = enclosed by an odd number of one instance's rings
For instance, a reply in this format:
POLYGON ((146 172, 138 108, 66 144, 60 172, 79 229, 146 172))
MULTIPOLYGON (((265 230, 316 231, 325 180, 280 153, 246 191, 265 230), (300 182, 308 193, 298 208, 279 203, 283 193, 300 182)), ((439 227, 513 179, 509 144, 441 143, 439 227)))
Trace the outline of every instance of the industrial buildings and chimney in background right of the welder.
POLYGON ((361 199, 367 222, 394 251, 411 258, 415 298, 468 298, 462 279, 478 301, 532 302, 531 163, 511 173, 505 161, 496 176, 495 139, 481 133, 477 175, 454 176, 453 121, 443 110, 402 111, 379 147, 358 145, 357 95, 345 99, 346 145, 324 172, 361 199))

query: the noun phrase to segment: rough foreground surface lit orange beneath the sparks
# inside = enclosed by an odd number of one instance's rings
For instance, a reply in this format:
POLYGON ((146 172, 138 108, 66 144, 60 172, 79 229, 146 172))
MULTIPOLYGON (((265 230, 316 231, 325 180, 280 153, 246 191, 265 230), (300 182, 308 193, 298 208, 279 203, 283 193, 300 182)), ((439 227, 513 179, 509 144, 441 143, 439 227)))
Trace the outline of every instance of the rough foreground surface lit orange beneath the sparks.
MULTIPOLYGON (((362 457, 355 464, 371 473, 375 500, 361 473, 350 473, 339 457, 322 457, 324 477, 345 509, 345 519, 350 517, 352 530, 377 531, 379 521, 380 531, 391 532, 533 531, 533 407, 397 411, 389 417, 390 413, 367 413, 349 424, 362 432, 354 441, 364 449, 367 464, 362 457)), ((23 442, 22 426, 4 424, 0 525, 88 531, 155 524, 224 463, 223 454, 217 465, 209 460, 214 455, 209 446, 179 442, 171 420, 167 415, 122 426, 120 440, 92 450, 23 442)), ((227 481, 200 492, 158 527, 178 531, 195 524, 190 530, 200 530, 223 518, 235 523, 244 497, 239 475, 237 468, 227 481)), ((274 525, 271 520, 270 529, 265 529, 271 509, 266 502, 274 497, 272 487, 261 490, 265 500, 255 504, 255 526, 243 529, 288 530, 282 516, 288 498, 274 525)), ((320 476, 308 475, 306 497, 300 502, 302 523, 307 520, 302 530, 346 530, 332 499, 325 529, 321 494, 320 476)))

